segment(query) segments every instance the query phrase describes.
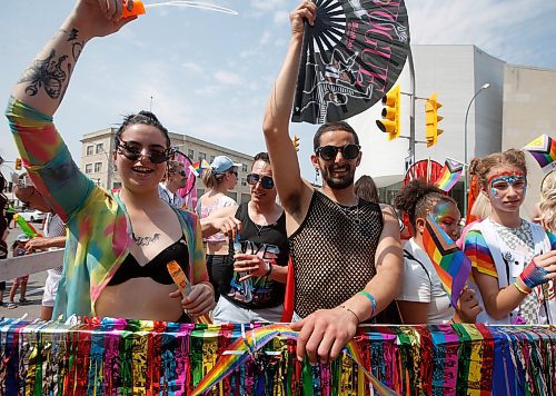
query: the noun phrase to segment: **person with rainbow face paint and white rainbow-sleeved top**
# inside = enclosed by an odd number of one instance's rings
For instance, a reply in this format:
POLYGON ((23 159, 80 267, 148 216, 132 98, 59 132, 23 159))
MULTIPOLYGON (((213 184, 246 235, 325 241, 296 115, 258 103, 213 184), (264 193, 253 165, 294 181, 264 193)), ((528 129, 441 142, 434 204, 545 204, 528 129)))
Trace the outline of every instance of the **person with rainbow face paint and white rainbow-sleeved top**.
POLYGON ((464 241, 486 309, 477 321, 555 324, 556 251, 542 227, 519 217, 527 189, 524 154, 492 154, 476 171, 493 209, 464 241))

